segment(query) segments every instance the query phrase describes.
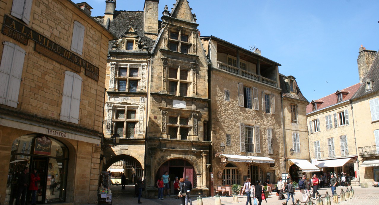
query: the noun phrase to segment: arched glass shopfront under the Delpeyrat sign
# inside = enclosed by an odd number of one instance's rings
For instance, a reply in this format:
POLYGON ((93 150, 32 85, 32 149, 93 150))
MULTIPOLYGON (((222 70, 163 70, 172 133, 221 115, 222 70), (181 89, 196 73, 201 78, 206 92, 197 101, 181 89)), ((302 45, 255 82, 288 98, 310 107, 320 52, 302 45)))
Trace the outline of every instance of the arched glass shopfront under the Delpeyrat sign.
MULTIPOLYGON (((5 202, 13 204, 17 194, 17 178, 25 167, 37 170, 40 181, 37 203, 66 201, 66 181, 69 150, 62 142, 41 134, 24 135, 14 140, 8 171, 5 202)), ((29 174, 30 174, 29 173, 29 174)), ((30 202, 27 194, 27 203, 30 202)))

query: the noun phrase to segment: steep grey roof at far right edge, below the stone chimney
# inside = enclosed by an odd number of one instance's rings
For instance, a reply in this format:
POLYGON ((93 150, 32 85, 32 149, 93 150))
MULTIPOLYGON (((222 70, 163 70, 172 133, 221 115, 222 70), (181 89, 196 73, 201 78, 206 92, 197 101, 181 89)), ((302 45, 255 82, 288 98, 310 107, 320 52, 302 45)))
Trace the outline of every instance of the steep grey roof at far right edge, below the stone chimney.
POLYGON ((365 78, 362 81, 362 85, 358 89, 357 93, 354 95, 354 98, 359 98, 365 95, 370 95, 379 91, 379 55, 376 53, 373 64, 371 64, 370 70, 367 72, 365 78), (373 86, 370 90, 366 90, 366 79, 374 81, 373 86))

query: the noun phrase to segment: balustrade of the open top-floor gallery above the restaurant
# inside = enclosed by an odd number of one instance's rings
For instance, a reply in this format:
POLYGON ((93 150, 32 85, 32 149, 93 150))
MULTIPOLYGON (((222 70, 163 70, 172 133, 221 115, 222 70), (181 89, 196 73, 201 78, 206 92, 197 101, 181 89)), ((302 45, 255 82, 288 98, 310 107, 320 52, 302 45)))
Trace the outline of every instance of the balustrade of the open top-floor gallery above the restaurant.
POLYGON ((244 71, 243 69, 239 69, 239 68, 227 65, 227 64, 219 62, 219 61, 217 62, 217 68, 220 70, 226 71, 228 73, 232 73, 232 74, 235 74, 238 76, 242 76, 242 77, 249 79, 249 80, 261 82, 263 84, 266 84, 266 85, 269 85, 272 87, 277 87, 277 82, 274 80, 270 80, 270 79, 265 78, 263 76, 258 76, 257 74, 254 74, 254 73, 249 73, 247 71, 244 71))

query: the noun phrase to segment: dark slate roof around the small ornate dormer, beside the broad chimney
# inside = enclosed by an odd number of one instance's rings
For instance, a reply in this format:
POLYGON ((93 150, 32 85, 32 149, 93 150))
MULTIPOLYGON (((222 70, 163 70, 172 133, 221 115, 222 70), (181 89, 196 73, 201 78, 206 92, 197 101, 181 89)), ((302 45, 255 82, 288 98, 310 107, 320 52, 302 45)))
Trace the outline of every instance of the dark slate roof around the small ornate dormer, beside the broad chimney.
MULTIPOLYGON (((94 17, 96 21, 104 25, 104 16, 94 17)), ((130 22, 136 28, 136 32, 141 37, 141 41, 146 41, 149 51, 154 44, 154 40, 145 36, 144 34, 144 15, 143 11, 114 11, 113 21, 109 27, 109 30, 117 38, 127 31, 130 22)), ((112 45, 115 41, 109 41, 108 51, 112 50, 112 45)))

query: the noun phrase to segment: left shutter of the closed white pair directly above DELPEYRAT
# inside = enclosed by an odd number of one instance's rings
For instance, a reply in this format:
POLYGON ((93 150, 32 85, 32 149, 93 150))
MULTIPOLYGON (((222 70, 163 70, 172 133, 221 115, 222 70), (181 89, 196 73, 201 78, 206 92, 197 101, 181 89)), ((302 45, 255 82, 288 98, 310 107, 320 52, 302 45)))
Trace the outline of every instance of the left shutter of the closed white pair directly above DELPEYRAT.
POLYGON ((72 98, 72 87, 74 85, 74 73, 71 71, 64 72, 64 84, 62 93, 62 105, 61 105, 61 120, 70 121, 70 109, 72 98))

